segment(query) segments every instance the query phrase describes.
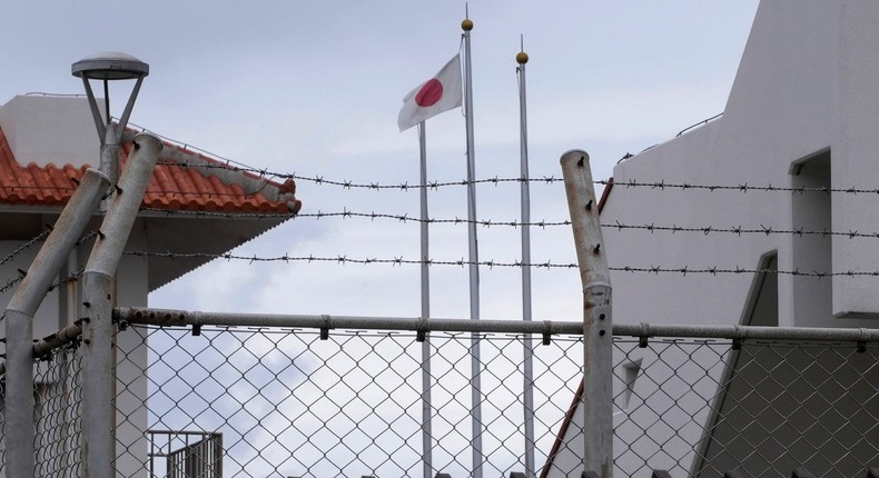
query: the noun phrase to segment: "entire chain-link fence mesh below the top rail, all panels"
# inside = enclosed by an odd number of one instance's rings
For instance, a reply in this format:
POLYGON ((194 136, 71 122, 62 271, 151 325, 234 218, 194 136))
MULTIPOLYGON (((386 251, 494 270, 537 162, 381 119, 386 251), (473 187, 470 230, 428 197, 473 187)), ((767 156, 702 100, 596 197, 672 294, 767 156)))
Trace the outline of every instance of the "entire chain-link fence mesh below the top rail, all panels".
MULTIPOLYGON (((472 476, 472 333, 374 326, 120 331, 117 414, 107 427, 117 476, 422 477, 425 457, 432 474, 472 476), (422 332, 431 351, 427 427, 422 332)), ((483 476, 525 471, 526 336, 476 337, 483 476)), ((76 343, 34 366, 37 476, 80 476, 76 343)), ((862 476, 879 466, 873 343, 615 336, 615 475, 862 476)), ((582 470, 591 436, 582 427, 590 401, 580 388, 582 348, 582 336, 554 333, 529 349, 535 476, 582 470)))

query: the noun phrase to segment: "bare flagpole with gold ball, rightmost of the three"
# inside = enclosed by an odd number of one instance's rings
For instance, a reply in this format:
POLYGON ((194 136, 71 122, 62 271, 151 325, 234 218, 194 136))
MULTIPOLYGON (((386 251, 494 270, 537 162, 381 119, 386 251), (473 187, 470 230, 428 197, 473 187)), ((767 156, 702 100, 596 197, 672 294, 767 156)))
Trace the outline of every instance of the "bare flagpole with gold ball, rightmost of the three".
MULTIPOLYGON (((523 41, 524 43, 524 41, 523 41)), ((530 321, 531 309, 531 192, 529 187, 529 126, 525 99, 525 63, 529 56, 520 49, 516 54, 516 72, 518 73, 518 118, 520 118, 520 151, 521 151, 521 196, 522 196, 522 319, 530 321)), ((534 366, 531 335, 522 339, 523 345, 523 405, 525 409, 525 474, 534 478, 534 366)))

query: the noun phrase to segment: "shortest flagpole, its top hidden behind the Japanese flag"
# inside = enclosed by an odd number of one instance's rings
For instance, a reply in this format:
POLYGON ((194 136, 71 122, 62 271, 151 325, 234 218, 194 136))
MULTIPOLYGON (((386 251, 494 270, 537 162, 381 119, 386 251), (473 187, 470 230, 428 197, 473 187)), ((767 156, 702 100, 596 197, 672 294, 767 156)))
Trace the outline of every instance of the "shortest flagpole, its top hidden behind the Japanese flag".
MULTIPOLYGON (((422 209, 422 319, 431 317, 431 272, 427 262, 431 258, 427 229, 427 131, 425 122, 418 123, 421 149, 421 209, 422 209)), ((431 339, 425 332, 422 342, 422 466, 424 478, 433 477, 431 439, 431 339)))

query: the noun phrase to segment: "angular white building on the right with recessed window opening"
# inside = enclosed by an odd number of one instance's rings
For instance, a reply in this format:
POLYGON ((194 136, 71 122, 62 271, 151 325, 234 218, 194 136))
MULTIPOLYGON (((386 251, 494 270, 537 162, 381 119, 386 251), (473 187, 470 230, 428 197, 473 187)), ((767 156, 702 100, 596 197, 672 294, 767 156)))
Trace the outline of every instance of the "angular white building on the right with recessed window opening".
MULTIPOLYGON (((723 116, 614 168, 602 223, 709 231, 606 227, 609 263, 616 268, 614 321, 879 327, 877 125, 879 2, 762 1, 723 116), (633 183, 721 188, 628 186, 633 183), (832 192, 797 192, 801 187, 832 192), (737 228, 766 233, 717 232, 737 228), (665 272, 619 270, 625 267, 665 272), (668 272, 684 268, 692 272, 668 272), (721 272, 698 272, 712 268, 721 272), (753 272, 761 269, 778 273, 753 272), (725 272, 737 270, 749 272, 725 272)), ((879 384, 877 374, 873 368, 866 377, 871 389, 879 384)), ((633 387, 639 396, 639 387, 649 385, 633 387)), ((618 415, 619 420, 625 414, 618 415)), ((879 418, 871 416, 873 422, 842 424, 836 431, 840 441, 850 431, 845 427, 860 427, 879 442, 879 418)), ((579 410, 571 417, 582 424, 579 410)), ((712 415, 705 410, 697 418, 705 426, 712 415)), ((580 460, 582 428, 569 425, 545 477, 563 476, 580 460)), ((624 425, 618 436, 630 431, 624 425)), ((700 434, 680 431, 691 446, 704 440, 700 434)), ((618 461, 622 452, 615 449, 618 461)), ((808 452, 816 455, 800 451, 808 452)), ((803 465, 807 458, 791 460, 803 465)), ((676 466, 678 475, 698 469, 694 454, 678 459, 683 462, 665 460, 653 468, 676 466)), ((855 469, 866 465, 878 464, 855 469)), ((724 466, 734 467, 734 459, 724 466)))

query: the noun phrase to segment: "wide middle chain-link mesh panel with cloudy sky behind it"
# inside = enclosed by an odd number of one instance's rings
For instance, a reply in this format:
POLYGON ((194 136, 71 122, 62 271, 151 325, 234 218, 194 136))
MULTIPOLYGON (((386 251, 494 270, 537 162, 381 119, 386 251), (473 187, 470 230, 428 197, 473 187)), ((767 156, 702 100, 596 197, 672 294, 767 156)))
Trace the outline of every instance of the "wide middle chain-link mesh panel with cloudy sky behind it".
MULTIPOLYGON (((149 343, 142 425, 154 437, 156 430, 221 434, 223 476, 422 476, 415 333, 333 332, 327 340, 318 331, 244 328, 126 333, 149 343)), ((470 333, 429 337, 433 469, 456 477, 472 469, 471 343, 470 333)), ((506 476, 525 467, 523 336, 481 336, 480 346, 483 472, 506 476)), ((536 462, 543 464, 579 385, 582 340, 557 337, 532 350, 536 462)), ((150 466, 160 467, 141 461, 141 470, 150 466)), ((195 476, 215 476, 209 472, 195 476)))

